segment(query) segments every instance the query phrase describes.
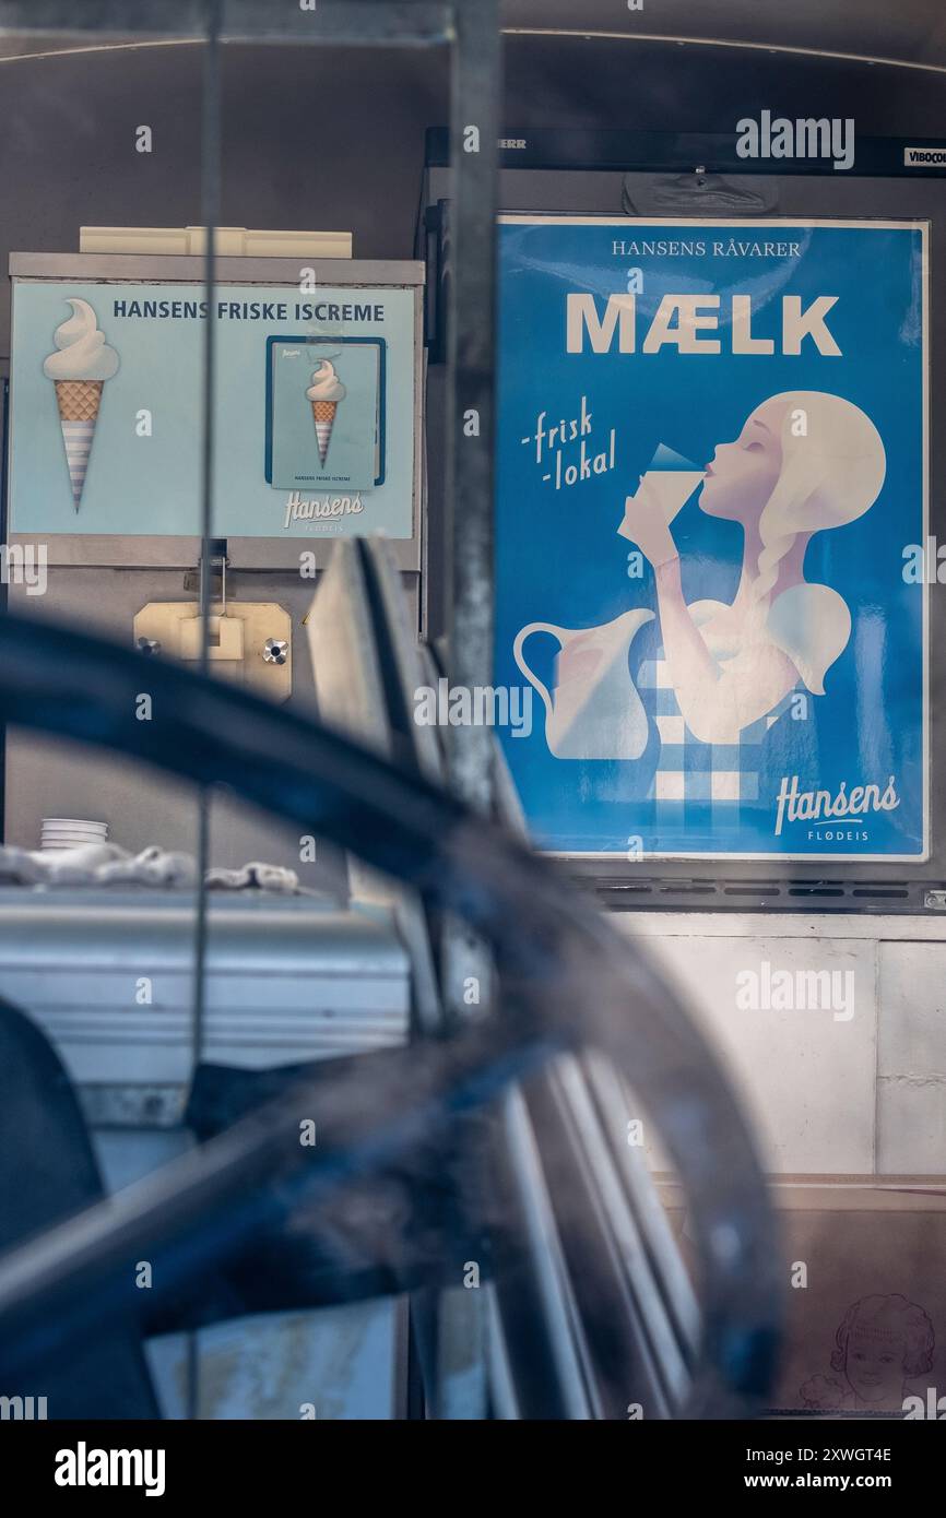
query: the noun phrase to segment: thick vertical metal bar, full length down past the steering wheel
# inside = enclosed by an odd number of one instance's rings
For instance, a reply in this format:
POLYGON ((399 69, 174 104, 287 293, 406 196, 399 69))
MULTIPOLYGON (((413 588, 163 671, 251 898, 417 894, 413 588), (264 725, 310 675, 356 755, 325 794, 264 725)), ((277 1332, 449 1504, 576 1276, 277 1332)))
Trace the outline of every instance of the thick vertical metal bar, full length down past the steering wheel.
MULTIPOLYGON (((451 235, 454 267, 446 372, 448 672, 466 691, 492 685, 493 665, 493 437, 498 138, 503 96, 500 0, 454 0, 451 79, 451 235)), ((493 733, 446 729, 453 788, 492 811, 493 733)), ((442 984, 448 1020, 492 1000, 486 944, 448 918, 442 984), (475 987, 471 999, 468 990, 475 987)), ((468 1205, 487 1186, 483 1155, 468 1179, 468 1205)), ((480 1213, 481 1216, 481 1213, 480 1213)), ((442 1293, 437 1312, 433 1418, 486 1416, 486 1316, 478 1292, 442 1293), (478 1345, 478 1353, 477 1353, 478 1345), (457 1389, 463 1389, 457 1397, 457 1389)))

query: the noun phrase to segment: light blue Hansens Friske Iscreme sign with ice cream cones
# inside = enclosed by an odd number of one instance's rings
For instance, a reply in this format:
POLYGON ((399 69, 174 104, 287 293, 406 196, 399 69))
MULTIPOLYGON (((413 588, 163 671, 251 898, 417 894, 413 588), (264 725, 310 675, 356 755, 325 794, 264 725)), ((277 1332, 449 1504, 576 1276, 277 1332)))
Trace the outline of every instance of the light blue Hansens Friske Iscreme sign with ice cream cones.
MULTIPOLYGON (((200 531, 200 285, 17 281, 11 525, 200 531)), ((217 536, 415 533, 415 296, 216 291, 217 536)))

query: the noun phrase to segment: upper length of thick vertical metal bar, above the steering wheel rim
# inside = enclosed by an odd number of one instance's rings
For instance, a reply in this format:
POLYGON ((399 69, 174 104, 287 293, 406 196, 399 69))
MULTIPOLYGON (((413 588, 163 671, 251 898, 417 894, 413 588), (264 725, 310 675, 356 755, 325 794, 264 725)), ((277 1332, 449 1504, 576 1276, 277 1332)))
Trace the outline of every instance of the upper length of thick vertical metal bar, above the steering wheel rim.
MULTIPOLYGON (((501 100, 498 0, 457 0, 453 49, 453 246, 448 346, 446 540, 449 676, 492 685, 495 235, 501 100)), ((490 806, 492 732, 449 727, 449 779, 490 806)))

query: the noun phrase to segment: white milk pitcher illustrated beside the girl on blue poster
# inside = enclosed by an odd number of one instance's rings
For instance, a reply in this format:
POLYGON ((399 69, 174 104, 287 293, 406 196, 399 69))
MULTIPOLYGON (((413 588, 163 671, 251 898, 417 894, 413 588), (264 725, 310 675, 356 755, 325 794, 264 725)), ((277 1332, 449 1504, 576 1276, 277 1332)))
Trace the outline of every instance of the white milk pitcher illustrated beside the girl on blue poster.
POLYGON ((633 610, 603 627, 530 622, 513 644, 513 659, 545 706, 545 741, 556 759, 639 759, 647 747, 647 713, 630 679, 627 654, 653 612, 633 610), (554 695, 525 663, 533 633, 551 633, 560 650, 554 695))

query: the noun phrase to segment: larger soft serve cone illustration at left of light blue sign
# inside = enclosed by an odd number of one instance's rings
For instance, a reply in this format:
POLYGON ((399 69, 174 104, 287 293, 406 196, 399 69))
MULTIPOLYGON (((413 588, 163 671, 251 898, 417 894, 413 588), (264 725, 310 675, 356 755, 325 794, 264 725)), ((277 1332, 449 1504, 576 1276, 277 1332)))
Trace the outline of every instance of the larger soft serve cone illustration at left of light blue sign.
POLYGON ((56 328, 56 351, 43 364, 43 373, 56 386, 65 461, 77 512, 102 405, 102 387, 118 372, 118 354, 105 342, 88 301, 70 299, 68 304, 73 314, 56 328))

